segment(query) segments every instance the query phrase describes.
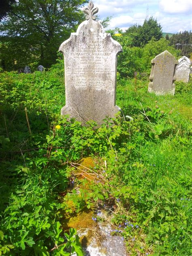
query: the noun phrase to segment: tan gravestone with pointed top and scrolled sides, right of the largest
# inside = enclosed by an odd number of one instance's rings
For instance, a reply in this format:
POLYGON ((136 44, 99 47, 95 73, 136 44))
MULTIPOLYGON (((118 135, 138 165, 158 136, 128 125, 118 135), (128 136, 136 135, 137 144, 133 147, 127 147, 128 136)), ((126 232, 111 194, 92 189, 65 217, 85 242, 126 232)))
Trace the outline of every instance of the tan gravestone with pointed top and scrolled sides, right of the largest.
POLYGON ((175 68, 178 61, 169 51, 164 51, 151 60, 151 64, 148 92, 154 92, 156 95, 174 95, 175 68))

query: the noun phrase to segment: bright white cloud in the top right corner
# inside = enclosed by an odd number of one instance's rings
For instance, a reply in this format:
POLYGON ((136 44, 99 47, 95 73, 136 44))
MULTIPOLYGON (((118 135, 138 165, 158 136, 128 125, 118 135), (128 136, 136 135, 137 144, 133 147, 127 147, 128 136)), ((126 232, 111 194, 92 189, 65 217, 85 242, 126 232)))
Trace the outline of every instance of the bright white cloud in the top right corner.
POLYGON ((191 0, 160 0, 160 9, 165 13, 185 14, 191 13, 191 0))

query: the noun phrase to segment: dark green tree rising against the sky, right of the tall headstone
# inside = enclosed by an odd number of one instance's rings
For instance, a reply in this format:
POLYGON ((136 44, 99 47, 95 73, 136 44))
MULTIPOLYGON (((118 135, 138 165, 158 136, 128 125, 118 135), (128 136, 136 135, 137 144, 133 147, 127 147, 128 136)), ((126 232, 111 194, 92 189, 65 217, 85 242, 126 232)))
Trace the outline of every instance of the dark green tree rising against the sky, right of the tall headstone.
POLYGON ((162 27, 158 24, 156 19, 150 17, 149 20, 145 19, 143 26, 136 24, 128 28, 126 34, 132 34, 132 46, 143 47, 152 38, 156 40, 162 38, 162 27))

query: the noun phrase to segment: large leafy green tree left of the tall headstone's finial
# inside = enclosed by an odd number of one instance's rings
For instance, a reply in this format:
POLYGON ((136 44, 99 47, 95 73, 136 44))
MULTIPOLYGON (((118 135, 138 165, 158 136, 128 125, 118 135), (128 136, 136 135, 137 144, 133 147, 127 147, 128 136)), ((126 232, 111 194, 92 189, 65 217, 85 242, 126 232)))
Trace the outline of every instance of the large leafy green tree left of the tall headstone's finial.
POLYGON ((8 17, 2 21, 2 66, 6 70, 21 68, 31 62, 51 66, 60 43, 83 20, 79 7, 85 2, 87 0, 15 2, 8 17))

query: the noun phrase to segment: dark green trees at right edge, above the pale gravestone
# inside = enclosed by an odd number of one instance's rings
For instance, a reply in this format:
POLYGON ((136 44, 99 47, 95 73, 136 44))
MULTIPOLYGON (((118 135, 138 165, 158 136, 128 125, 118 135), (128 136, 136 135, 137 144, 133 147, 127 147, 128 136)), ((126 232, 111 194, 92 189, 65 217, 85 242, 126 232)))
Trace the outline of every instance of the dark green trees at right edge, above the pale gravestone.
POLYGON ((185 44, 190 44, 192 45, 192 32, 184 31, 180 32, 177 34, 174 34, 170 38, 170 45, 174 45, 175 48, 181 49, 182 55, 185 55, 187 57, 190 57, 192 53, 192 47, 190 45, 185 45, 185 44), (177 45, 180 44, 180 45, 177 45))

